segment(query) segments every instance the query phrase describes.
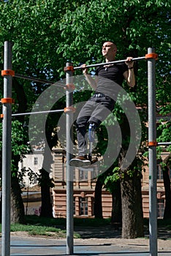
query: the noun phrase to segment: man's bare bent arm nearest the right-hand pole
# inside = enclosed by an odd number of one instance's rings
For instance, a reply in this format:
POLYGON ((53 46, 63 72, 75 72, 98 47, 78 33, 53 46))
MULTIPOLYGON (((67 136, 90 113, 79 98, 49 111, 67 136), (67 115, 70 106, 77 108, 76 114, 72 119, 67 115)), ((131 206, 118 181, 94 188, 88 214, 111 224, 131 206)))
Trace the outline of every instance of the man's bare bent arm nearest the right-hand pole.
POLYGON ((128 71, 125 71, 123 73, 124 78, 126 79, 126 82, 130 87, 135 86, 135 77, 134 77, 134 61, 132 61, 132 57, 127 57, 126 59, 126 65, 128 66, 128 71))

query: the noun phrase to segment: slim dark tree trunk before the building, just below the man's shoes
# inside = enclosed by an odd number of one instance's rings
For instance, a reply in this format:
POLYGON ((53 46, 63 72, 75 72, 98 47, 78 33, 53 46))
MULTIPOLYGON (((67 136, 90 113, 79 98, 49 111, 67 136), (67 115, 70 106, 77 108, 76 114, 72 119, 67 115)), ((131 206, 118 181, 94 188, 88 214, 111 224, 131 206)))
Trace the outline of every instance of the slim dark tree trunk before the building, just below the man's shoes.
POLYGON ((95 195, 94 195, 94 217, 103 219, 102 214, 102 187, 103 183, 101 178, 97 178, 96 187, 95 187, 95 195))

